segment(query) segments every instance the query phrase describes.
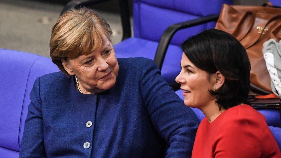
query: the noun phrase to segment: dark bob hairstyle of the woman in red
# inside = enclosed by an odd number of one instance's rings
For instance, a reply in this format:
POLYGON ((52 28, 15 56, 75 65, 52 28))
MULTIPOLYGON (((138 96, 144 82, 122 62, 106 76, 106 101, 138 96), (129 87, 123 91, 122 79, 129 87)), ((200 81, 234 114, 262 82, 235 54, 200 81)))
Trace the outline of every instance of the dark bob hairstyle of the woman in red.
POLYGON ((221 30, 206 30, 184 41, 182 49, 196 67, 209 74, 219 71, 225 77, 219 90, 209 90, 216 96, 219 109, 248 104, 251 66, 246 50, 236 38, 221 30))

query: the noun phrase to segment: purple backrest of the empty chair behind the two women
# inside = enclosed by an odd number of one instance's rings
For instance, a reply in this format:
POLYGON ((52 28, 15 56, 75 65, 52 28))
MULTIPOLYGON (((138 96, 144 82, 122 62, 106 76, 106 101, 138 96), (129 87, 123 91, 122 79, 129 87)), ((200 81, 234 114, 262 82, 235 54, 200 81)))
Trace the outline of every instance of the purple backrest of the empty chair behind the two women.
MULTIPOLYGON (((232 4, 233 0, 133 0, 134 37, 159 41, 168 26, 210 14, 219 15, 223 3, 232 4)), ((215 22, 202 26, 178 31, 171 44, 180 45, 187 37, 214 28, 215 22)))

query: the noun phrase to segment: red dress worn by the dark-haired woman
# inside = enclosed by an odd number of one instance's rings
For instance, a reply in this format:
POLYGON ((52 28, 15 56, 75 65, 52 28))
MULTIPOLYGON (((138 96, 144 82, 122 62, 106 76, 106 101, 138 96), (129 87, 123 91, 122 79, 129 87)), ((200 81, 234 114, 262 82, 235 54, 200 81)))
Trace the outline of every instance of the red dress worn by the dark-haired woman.
POLYGON ((249 105, 227 109, 212 123, 200 123, 192 157, 281 157, 265 117, 249 105))

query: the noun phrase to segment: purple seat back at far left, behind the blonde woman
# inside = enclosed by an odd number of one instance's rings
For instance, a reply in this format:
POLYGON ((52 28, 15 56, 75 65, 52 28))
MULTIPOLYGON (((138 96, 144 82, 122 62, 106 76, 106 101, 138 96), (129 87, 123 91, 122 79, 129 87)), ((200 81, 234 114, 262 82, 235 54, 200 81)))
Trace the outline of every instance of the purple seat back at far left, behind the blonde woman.
POLYGON ((59 71, 50 58, 0 49, 0 157, 18 157, 35 79, 59 71))

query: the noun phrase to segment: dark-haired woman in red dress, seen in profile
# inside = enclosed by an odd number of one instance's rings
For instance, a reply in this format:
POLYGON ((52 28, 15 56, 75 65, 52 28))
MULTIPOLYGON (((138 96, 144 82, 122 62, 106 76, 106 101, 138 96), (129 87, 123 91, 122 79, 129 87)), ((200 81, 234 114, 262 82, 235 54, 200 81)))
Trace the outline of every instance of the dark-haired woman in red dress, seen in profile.
POLYGON ((182 44, 176 82, 185 105, 206 116, 198 127, 192 157, 281 157, 265 117, 247 105, 250 62, 229 33, 206 30, 182 44))

